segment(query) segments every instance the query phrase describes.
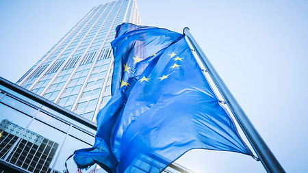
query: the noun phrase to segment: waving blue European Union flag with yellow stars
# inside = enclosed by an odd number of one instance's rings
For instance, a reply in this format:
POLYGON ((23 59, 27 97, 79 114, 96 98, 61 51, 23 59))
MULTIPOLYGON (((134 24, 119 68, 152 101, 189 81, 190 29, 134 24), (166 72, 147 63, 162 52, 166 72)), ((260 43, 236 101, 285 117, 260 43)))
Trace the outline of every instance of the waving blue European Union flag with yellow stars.
POLYGON ((97 116, 79 168, 161 172, 188 150, 253 155, 207 83, 182 34, 123 23, 112 42, 112 98, 97 116))

